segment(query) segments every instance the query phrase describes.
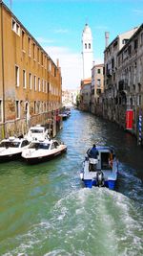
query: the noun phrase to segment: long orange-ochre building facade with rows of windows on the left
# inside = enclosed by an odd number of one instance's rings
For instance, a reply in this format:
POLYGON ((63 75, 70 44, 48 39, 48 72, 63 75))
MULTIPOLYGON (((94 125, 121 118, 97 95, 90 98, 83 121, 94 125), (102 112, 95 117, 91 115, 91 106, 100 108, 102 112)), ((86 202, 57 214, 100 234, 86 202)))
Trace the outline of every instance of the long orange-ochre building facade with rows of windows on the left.
POLYGON ((0 1, 0 137, 56 122, 61 70, 0 1))

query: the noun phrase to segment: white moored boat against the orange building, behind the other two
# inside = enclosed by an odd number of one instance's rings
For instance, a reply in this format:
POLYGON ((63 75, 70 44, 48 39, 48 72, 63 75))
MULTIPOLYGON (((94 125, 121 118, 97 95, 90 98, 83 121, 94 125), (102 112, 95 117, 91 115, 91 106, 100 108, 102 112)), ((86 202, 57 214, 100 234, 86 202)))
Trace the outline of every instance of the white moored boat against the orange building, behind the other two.
POLYGON ((36 125, 29 129, 28 133, 25 135, 25 138, 29 141, 50 138, 49 130, 41 125, 36 125))

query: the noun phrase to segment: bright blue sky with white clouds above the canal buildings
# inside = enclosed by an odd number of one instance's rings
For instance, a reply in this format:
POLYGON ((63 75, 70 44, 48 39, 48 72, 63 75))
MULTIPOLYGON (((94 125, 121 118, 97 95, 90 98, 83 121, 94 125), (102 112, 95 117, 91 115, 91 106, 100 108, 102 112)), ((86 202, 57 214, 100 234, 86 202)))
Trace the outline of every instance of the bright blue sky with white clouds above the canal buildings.
POLYGON ((143 23, 143 0, 4 0, 53 61, 59 58, 63 88, 77 88, 82 79, 81 36, 92 29, 96 63, 103 62, 105 32, 110 42, 143 23))

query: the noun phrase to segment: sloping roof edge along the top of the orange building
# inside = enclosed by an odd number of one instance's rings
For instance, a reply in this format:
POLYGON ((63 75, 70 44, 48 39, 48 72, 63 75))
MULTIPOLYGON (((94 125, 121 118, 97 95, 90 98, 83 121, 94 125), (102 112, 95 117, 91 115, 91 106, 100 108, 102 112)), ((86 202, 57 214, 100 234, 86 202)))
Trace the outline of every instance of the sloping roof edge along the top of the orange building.
POLYGON ((15 19, 15 21, 18 22, 18 24, 22 27, 23 30, 25 30, 25 32, 30 35, 31 39, 38 45, 38 47, 47 55, 47 57, 51 60, 51 62, 57 67, 57 65, 54 63, 54 61, 51 59, 51 57, 49 56, 49 54, 43 49, 43 47, 39 44, 39 42, 31 35, 31 33, 26 29, 26 27, 19 21, 19 19, 13 14, 13 12, 10 11, 10 9, 8 8, 8 6, 3 2, 3 0, 0 0, 0 5, 2 7, 4 7, 7 12, 10 13, 10 15, 15 19))

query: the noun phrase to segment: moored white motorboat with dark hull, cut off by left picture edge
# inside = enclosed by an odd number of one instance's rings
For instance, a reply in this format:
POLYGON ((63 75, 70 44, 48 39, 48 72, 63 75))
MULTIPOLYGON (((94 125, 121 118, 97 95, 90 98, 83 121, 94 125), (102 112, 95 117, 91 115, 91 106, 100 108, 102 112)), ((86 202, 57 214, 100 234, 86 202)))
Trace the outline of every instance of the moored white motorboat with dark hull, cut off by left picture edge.
POLYGON ((3 139, 0 142, 0 162, 15 160, 21 157, 24 149, 28 148, 30 142, 25 138, 16 138, 14 136, 3 139))

